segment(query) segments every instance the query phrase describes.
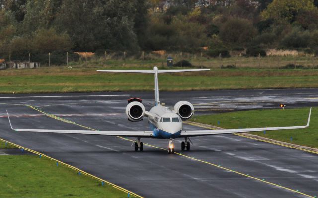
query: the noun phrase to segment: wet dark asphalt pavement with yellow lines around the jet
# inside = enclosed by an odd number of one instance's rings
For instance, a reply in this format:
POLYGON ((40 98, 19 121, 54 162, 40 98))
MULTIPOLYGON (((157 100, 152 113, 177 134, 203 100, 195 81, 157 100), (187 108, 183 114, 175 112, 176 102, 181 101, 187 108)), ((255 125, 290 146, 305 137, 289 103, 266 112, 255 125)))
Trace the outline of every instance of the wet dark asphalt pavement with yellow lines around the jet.
MULTIPOLYGON (((144 99, 146 110, 153 105, 152 92, 0 95, 0 138, 147 198, 318 196, 317 154, 235 135, 192 138, 191 151, 180 155, 167 154, 168 140, 142 139, 149 145, 135 152, 131 141, 118 137, 14 132, 5 113, 15 128, 148 130, 147 119, 127 120, 130 97, 144 99)), ((196 114, 277 108, 280 103, 318 106, 318 89, 160 92, 159 97, 169 107, 187 100, 195 104, 196 114)), ((175 141, 178 153, 181 140, 175 141)))

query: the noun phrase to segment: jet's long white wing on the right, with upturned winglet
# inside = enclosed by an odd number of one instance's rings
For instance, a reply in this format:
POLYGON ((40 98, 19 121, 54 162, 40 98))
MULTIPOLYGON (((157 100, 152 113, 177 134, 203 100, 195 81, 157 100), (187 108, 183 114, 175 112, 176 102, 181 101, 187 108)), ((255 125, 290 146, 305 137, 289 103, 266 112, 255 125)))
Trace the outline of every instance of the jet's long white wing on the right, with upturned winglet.
POLYGON ((310 108, 307 125, 304 126, 290 126, 290 127, 263 127, 263 128, 246 128, 246 129, 217 129, 217 130, 194 130, 194 131, 182 131, 180 137, 194 137, 194 136, 207 136, 207 135, 219 135, 229 133, 244 133, 244 132, 257 132, 257 131, 274 131, 285 129, 303 129, 309 126, 310 116, 312 108, 310 108))

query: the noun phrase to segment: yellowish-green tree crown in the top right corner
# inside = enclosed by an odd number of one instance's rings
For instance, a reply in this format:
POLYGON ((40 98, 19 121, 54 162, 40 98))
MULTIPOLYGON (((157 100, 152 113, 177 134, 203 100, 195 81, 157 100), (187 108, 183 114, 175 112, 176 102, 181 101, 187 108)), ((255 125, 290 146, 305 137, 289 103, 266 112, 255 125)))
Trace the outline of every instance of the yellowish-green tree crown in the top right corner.
POLYGON ((276 21, 293 23, 302 11, 315 11, 313 0, 273 0, 262 12, 265 19, 273 18, 276 21))

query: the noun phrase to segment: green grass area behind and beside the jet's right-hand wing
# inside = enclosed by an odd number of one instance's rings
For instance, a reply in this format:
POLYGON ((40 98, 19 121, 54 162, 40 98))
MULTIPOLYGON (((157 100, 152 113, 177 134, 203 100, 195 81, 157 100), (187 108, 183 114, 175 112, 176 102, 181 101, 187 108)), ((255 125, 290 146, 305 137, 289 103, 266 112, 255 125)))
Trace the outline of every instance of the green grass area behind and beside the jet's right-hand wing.
MULTIPOLYGON (((222 128, 253 128, 306 125, 309 108, 251 110, 195 116, 196 122, 222 128), (220 125, 218 125, 218 121, 220 125)), ((306 129, 254 132, 253 134, 288 143, 318 148, 318 108, 313 108, 310 126, 306 129), (292 140, 291 140, 292 137, 292 140)), ((192 118, 194 120, 194 118, 192 118)))

